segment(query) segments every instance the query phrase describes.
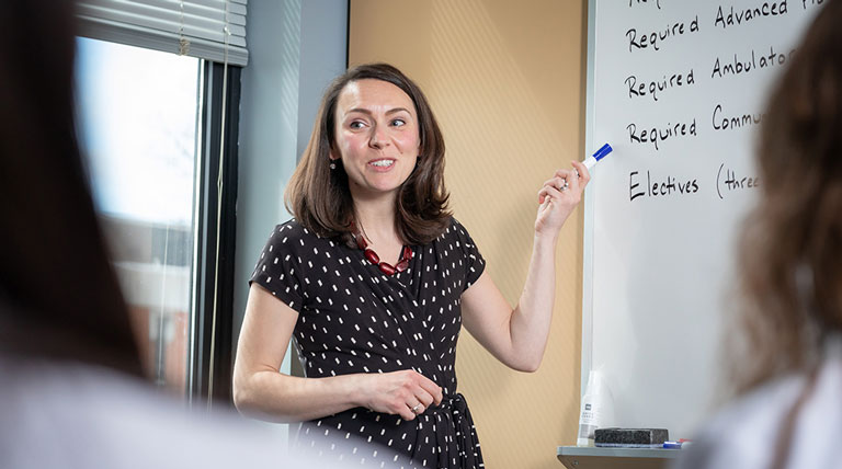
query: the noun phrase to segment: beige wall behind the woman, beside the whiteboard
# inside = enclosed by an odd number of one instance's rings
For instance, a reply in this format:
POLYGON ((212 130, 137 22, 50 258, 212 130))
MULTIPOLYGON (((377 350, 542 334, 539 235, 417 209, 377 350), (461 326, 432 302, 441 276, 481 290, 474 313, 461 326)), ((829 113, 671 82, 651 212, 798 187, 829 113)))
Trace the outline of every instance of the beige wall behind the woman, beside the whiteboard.
MULTIPOLYGON (((509 301, 526 276, 536 193, 555 169, 581 159, 584 0, 352 0, 349 61, 389 61, 424 90, 447 145, 456 217, 509 301)), ((556 306, 535 374, 508 369, 468 334, 459 390, 486 467, 558 469, 573 444, 581 350, 582 214, 565 226, 556 306)))

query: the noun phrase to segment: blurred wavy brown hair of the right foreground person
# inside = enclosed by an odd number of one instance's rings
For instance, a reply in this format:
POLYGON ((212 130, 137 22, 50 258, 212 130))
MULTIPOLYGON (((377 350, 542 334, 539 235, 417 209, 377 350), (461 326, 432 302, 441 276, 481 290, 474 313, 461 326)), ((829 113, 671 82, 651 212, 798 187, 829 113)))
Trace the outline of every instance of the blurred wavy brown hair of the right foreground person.
POLYGON ((744 392, 817 364, 842 330, 842 2, 820 11, 771 95, 762 194, 741 243, 732 382, 744 392))

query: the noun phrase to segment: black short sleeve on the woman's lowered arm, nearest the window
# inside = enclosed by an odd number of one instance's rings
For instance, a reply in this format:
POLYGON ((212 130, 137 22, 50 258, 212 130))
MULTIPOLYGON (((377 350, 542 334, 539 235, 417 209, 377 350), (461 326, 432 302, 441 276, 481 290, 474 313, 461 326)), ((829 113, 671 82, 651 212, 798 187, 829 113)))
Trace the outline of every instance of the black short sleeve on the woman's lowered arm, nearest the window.
POLYGON ((258 265, 251 274, 249 285, 257 283, 286 306, 301 312, 304 293, 300 282, 300 229, 293 221, 278 225, 269 236, 260 253, 258 265))

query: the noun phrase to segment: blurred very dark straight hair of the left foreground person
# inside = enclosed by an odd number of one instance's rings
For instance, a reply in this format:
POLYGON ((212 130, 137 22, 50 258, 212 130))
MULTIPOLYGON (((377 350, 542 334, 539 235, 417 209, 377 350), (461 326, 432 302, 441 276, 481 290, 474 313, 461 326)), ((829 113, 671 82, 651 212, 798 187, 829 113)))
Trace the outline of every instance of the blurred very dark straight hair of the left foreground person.
POLYGON ((0 351, 141 376, 76 140, 75 3, 0 22, 0 351))

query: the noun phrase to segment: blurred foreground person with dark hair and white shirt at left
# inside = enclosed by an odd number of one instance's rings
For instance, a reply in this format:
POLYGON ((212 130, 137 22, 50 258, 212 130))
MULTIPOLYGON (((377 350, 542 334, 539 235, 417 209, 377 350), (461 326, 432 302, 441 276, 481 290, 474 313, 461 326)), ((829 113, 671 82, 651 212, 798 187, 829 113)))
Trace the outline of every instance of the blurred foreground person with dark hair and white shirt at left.
POLYGON ((76 141, 73 3, 0 21, 0 467, 325 467, 144 380, 76 141))

